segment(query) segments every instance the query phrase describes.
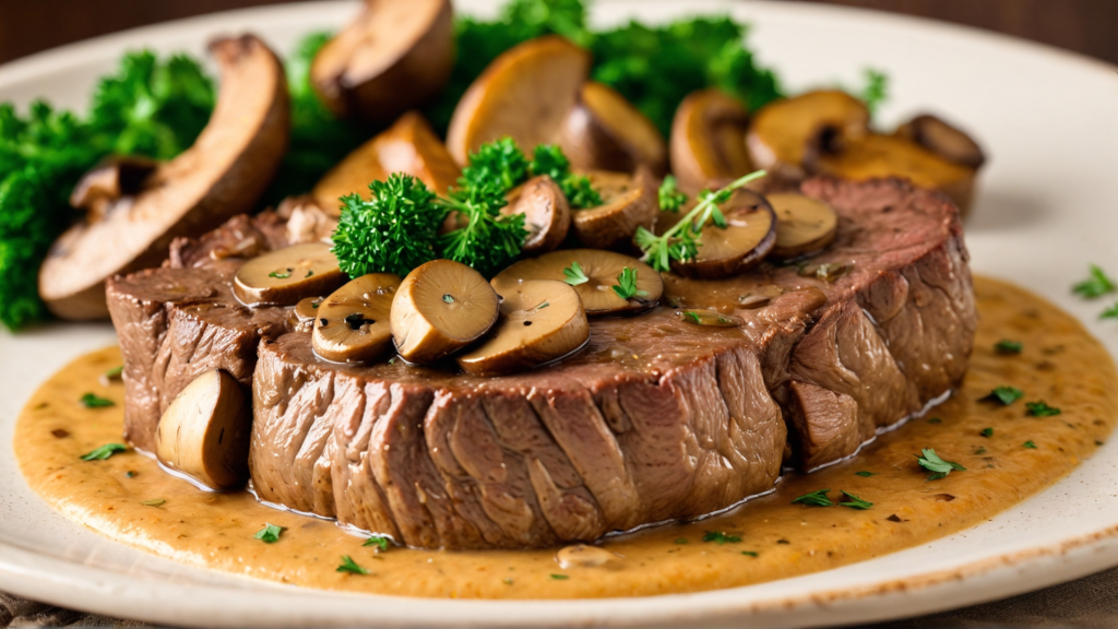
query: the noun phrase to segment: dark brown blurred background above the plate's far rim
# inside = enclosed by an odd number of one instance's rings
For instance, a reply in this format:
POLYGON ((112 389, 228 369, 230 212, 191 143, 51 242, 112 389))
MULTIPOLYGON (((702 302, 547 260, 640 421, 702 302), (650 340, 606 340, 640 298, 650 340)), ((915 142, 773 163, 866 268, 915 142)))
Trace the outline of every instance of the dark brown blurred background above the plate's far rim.
MULTIPOLYGON (((277 1, 283 0, 0 0, 0 63, 125 28, 277 1)), ((817 1, 935 18, 1118 63, 1118 0, 784 1, 817 1)))

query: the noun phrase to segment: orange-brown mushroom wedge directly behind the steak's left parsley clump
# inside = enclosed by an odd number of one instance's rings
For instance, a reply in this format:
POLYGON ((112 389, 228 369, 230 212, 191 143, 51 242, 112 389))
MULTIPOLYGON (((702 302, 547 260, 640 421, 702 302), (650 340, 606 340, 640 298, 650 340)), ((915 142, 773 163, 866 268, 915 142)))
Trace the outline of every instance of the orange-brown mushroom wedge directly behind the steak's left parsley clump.
POLYGON ((369 182, 387 179, 394 172, 416 177, 437 194, 445 194, 461 175, 426 119, 408 112, 331 168, 312 194, 320 207, 338 216, 341 197, 357 194, 368 199, 369 182))

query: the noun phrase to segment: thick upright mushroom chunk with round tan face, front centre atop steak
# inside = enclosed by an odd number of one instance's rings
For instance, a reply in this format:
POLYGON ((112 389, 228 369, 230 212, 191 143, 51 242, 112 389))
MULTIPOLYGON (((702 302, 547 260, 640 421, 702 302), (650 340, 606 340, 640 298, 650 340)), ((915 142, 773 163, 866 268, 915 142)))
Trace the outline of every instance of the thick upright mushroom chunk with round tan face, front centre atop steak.
POLYGON ((392 299, 396 350, 408 363, 434 363, 481 338, 500 303, 481 273, 453 260, 433 260, 404 278, 392 299))

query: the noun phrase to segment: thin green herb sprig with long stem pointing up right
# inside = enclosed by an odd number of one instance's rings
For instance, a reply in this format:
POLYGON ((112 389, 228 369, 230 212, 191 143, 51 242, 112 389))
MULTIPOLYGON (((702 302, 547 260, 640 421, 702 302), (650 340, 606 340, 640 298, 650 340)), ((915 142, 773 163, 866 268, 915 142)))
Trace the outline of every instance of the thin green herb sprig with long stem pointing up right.
POLYGON ((656 271, 665 273, 671 271, 673 260, 679 262, 693 260, 699 255, 699 247, 702 244, 700 238, 707 223, 726 226, 726 217, 719 209, 719 204, 730 200, 735 190, 765 175, 764 170, 750 172, 717 193, 700 195, 699 203, 691 208, 691 212, 660 236, 645 229, 644 226, 637 227, 635 240, 637 246, 644 251, 642 260, 656 271))

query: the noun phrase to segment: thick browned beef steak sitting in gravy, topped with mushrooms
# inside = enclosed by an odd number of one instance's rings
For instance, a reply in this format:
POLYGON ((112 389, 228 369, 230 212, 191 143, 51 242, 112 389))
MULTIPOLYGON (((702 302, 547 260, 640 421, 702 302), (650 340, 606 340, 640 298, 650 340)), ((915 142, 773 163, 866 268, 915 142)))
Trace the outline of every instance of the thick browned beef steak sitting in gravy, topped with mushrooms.
POLYGON ((856 453, 948 393, 972 351, 949 200, 899 180, 802 191, 840 216, 807 265, 665 275, 659 308, 591 319, 578 354, 486 378, 318 358, 292 309, 246 308, 231 284, 246 259, 329 229, 302 208, 234 218, 178 241, 163 267, 108 281, 125 435, 152 451, 174 397, 220 368, 252 392, 262 500, 411 546, 540 547, 724 509, 770 490, 786 461, 856 453), (740 325, 679 316, 693 308, 740 325))

